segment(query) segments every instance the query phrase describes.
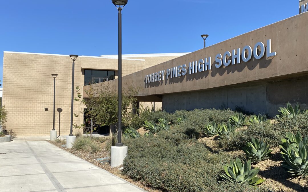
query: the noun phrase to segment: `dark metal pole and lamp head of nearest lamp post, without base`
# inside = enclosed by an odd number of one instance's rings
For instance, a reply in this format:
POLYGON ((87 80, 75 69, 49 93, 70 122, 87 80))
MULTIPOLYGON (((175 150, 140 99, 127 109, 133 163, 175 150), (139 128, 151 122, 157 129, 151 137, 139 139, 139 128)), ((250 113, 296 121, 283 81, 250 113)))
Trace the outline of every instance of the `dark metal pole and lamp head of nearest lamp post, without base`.
POLYGON ((128 0, 112 0, 112 3, 118 9, 118 142, 115 143, 116 147, 123 147, 121 135, 122 135, 122 9, 127 4, 128 0), (122 7, 121 7, 122 6, 122 7))

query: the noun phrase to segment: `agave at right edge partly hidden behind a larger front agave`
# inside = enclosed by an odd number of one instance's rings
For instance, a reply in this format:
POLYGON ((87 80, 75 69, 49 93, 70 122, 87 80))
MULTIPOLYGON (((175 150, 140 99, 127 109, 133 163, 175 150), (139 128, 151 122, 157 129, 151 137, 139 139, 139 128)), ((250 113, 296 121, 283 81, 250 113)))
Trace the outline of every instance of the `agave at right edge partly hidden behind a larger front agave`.
POLYGON ((287 132, 285 138, 281 139, 281 144, 279 145, 281 147, 280 151, 282 151, 283 153, 287 153, 289 145, 298 148, 301 141, 304 146, 308 146, 308 137, 302 138, 302 134, 300 131, 297 131, 296 135, 291 132, 287 132))

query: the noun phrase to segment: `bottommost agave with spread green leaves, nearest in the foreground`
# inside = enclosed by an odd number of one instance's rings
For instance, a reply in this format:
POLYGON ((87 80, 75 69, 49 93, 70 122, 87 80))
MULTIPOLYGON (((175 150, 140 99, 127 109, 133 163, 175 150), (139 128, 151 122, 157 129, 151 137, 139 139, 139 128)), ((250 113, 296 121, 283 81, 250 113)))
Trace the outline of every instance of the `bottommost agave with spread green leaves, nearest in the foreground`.
POLYGON ((222 178, 225 178, 231 182, 244 183, 249 182, 249 185, 258 185, 265 180, 256 177, 259 172, 259 168, 251 168, 251 160, 243 163, 240 159, 231 160, 230 164, 224 166, 225 173, 221 174, 222 178))

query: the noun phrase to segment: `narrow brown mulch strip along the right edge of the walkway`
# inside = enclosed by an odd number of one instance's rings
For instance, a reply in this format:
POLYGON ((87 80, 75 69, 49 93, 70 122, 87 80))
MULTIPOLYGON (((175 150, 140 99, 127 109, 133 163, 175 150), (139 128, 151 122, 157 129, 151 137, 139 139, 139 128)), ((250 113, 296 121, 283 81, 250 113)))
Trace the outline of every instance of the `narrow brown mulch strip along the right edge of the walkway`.
POLYGON ((90 153, 87 151, 83 151, 83 150, 76 150, 76 149, 67 149, 66 147, 62 147, 61 145, 63 143, 57 143, 55 141, 48 141, 49 143, 54 144, 55 146, 73 154, 76 155, 77 157, 86 160, 87 162, 90 162, 94 165, 96 165, 97 167, 100 167, 104 170, 107 170, 108 172, 140 187, 143 188, 144 190, 147 190, 149 192, 161 192, 160 190, 153 190, 152 188, 149 188, 147 186, 145 186, 142 182, 140 181, 133 181, 132 179, 130 179, 128 176, 122 174, 121 170, 119 170, 119 167, 115 167, 115 168, 111 168, 110 167, 110 163, 99 163, 99 161, 97 161, 96 159, 99 158, 105 158, 105 157, 110 157, 110 152, 104 149, 104 146, 106 145, 106 142, 101 143, 101 148, 102 150, 99 151, 98 153, 90 153))

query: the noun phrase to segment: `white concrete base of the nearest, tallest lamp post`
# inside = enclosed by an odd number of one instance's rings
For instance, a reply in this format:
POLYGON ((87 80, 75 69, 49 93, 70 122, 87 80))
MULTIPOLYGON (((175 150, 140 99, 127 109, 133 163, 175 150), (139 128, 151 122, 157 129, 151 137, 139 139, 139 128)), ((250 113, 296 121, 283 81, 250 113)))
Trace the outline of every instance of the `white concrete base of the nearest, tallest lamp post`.
POLYGON ((111 146, 110 151, 110 167, 118 167, 123 164, 123 160, 127 155, 127 146, 116 147, 111 146))

